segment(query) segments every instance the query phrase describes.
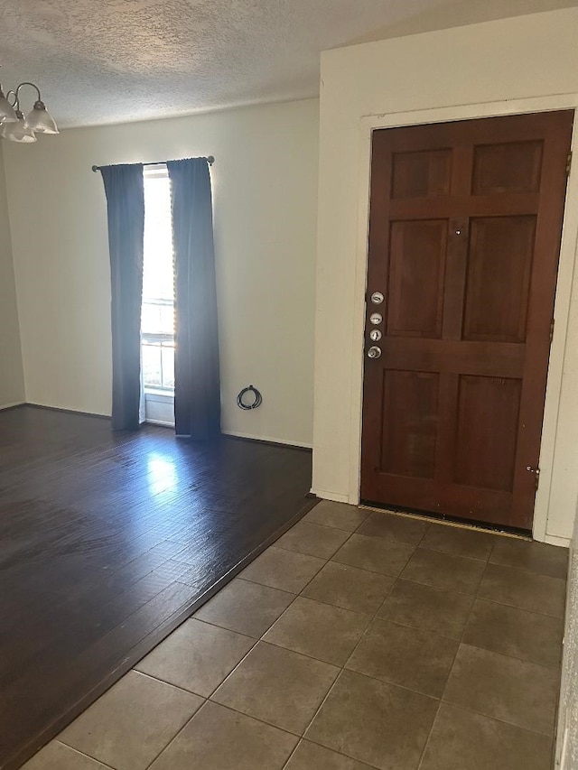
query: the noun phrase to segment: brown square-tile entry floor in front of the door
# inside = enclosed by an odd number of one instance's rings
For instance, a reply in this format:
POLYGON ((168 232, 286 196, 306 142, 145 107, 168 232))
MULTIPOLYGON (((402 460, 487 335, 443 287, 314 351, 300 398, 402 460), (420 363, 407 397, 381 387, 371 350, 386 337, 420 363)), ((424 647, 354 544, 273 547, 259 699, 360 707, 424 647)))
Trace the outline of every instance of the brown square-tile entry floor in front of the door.
POLYGON ((567 552, 322 502, 26 770, 548 770, 567 552))

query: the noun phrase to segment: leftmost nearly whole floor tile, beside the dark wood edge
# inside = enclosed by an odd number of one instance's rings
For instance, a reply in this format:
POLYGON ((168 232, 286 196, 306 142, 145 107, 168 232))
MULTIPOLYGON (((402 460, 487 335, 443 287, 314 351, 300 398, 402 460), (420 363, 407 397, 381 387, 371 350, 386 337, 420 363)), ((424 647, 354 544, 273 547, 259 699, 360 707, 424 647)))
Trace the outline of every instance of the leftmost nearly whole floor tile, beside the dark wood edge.
POLYGON ((202 699, 131 671, 66 728, 59 740, 116 770, 144 770, 202 699))

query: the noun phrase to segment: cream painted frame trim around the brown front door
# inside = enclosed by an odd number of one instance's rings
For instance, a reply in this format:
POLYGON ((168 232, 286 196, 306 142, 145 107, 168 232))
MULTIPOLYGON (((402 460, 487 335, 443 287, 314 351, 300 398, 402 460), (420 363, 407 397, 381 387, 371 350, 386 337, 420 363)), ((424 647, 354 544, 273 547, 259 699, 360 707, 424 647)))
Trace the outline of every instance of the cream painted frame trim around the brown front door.
MULTIPOLYGON (((354 355, 351 370, 350 479, 349 502, 359 504, 361 478, 361 422, 363 408, 365 296, 368 274, 369 185, 371 178, 371 138, 379 128, 407 125, 447 123, 480 117, 524 115, 574 109, 572 146, 574 162, 578 162, 578 95, 531 97, 508 102, 483 102, 458 107, 434 107, 411 112, 363 116, 359 125, 359 211, 355 254, 354 287, 354 355)), ((569 540, 546 534, 550 507, 550 491, 555 459, 558 406, 562 390, 564 354, 568 334, 574 264, 578 261, 578 171, 570 175, 564 204, 562 245, 555 295, 555 334, 550 348, 545 392, 544 422, 540 443, 540 483, 534 507, 533 536, 536 540, 568 545, 569 540)), ((578 271, 578 265, 576 266, 578 271)))

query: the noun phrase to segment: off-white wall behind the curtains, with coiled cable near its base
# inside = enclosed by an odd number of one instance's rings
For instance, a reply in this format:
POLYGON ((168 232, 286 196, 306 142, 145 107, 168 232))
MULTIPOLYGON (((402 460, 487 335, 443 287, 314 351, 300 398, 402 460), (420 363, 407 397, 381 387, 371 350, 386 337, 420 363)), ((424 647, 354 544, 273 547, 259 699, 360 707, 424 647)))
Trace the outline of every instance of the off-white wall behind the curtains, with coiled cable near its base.
POLYGON ((91 165, 212 154, 223 427, 311 444, 318 108, 71 129, 7 148, 27 401, 110 412, 106 201, 91 165), (242 412, 249 384, 263 405, 242 412))

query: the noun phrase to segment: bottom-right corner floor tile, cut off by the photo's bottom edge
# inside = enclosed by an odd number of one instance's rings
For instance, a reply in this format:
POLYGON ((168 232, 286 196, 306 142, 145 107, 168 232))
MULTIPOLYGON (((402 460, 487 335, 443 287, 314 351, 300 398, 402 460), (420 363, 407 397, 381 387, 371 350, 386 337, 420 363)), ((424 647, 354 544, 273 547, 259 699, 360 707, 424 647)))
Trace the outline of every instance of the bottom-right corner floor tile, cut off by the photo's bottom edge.
POLYGON ((420 770, 550 770, 552 741, 443 703, 420 770))

